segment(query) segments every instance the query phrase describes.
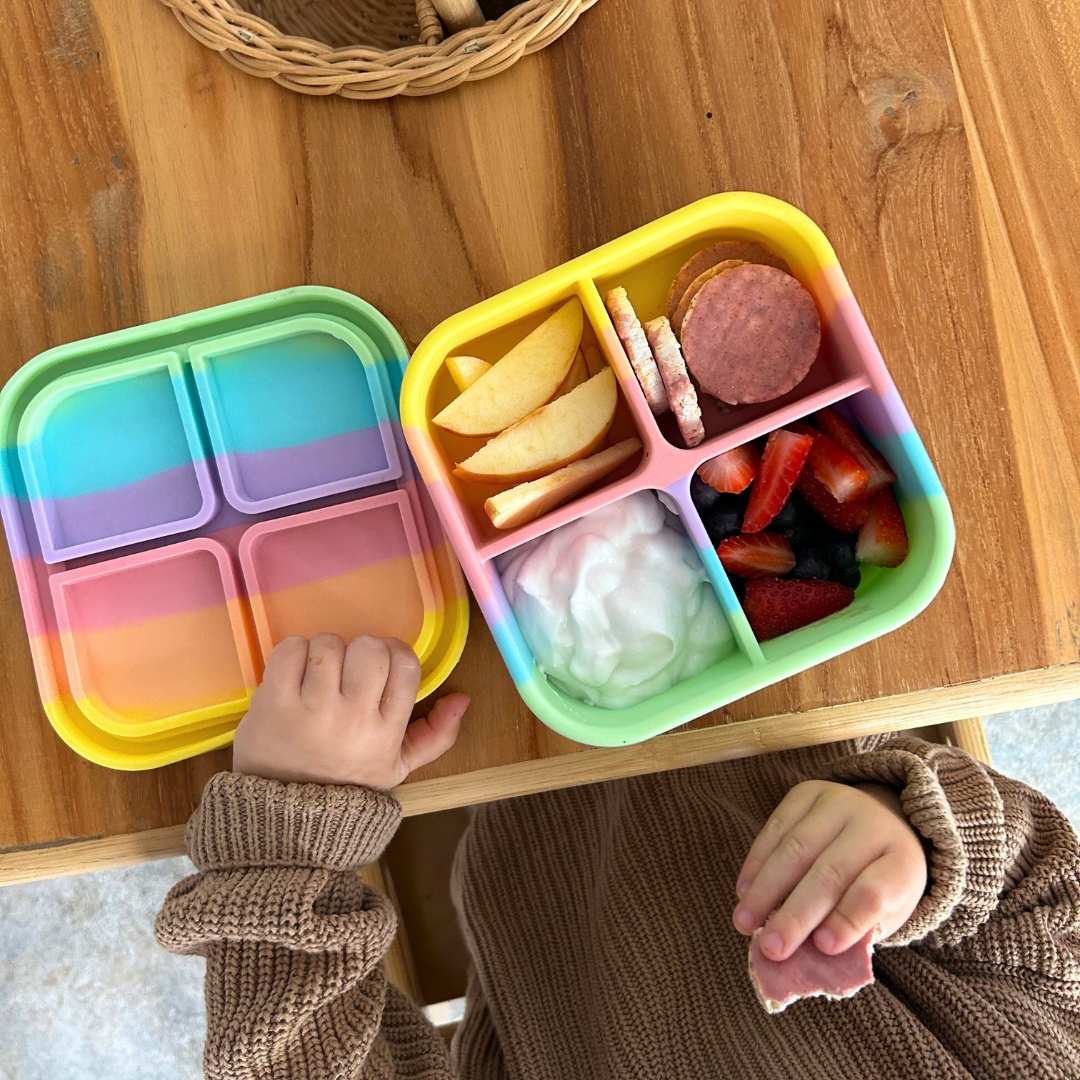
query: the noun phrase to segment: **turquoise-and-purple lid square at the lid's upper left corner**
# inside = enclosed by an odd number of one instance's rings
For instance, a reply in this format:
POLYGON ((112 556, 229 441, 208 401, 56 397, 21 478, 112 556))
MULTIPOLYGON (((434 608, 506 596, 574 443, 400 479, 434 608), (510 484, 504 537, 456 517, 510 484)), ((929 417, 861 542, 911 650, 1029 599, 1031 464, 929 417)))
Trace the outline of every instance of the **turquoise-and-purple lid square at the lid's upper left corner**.
POLYGON ((18 458, 46 563, 185 532, 217 510, 175 352, 51 382, 23 413, 18 458))

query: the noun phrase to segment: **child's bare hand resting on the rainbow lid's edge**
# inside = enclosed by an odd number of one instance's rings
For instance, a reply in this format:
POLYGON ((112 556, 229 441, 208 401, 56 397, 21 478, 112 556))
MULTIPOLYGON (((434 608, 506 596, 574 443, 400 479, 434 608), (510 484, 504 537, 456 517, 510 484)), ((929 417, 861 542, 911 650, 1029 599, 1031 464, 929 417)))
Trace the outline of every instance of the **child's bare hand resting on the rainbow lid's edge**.
POLYGON ((286 783, 384 791, 449 750, 463 693, 408 723, 420 686, 416 653, 396 638, 287 637, 270 654, 237 728, 232 768, 286 783))

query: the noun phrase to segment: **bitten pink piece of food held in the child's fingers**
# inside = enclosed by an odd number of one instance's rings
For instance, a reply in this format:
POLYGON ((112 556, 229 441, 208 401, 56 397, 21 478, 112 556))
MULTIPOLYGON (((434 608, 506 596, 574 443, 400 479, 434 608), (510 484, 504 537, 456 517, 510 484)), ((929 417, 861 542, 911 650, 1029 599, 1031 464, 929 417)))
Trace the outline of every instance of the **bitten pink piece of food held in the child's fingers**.
POLYGON ((786 960, 770 960, 758 942, 761 930, 750 942, 750 981, 766 1012, 783 1012, 800 998, 850 998, 874 982, 870 955, 875 932, 836 956, 822 953, 808 937, 786 960))

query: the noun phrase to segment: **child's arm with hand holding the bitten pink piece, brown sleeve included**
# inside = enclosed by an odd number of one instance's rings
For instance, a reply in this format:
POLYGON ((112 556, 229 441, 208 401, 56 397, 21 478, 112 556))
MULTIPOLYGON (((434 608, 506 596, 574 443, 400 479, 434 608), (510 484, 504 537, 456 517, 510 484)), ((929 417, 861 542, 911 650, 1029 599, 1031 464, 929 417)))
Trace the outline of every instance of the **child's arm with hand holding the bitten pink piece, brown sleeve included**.
POLYGON ((883 946, 909 947, 876 951, 878 982, 964 1075, 1080 1076, 1080 843, 1065 815, 907 737, 823 779, 794 787, 754 843, 737 927, 766 924, 767 951, 774 930, 783 958, 809 933, 833 953, 880 926, 883 946))

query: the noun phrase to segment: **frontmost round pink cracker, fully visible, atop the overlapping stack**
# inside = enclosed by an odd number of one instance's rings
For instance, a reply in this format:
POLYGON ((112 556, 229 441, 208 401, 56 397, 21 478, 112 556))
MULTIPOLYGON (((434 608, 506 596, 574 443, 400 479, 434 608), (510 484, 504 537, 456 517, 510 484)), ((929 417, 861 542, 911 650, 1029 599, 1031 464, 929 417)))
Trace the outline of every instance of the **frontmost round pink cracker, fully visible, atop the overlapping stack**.
POLYGON ((705 393, 732 405, 794 390, 821 348, 813 297, 775 267, 746 264, 707 281, 683 321, 683 355, 705 393))

